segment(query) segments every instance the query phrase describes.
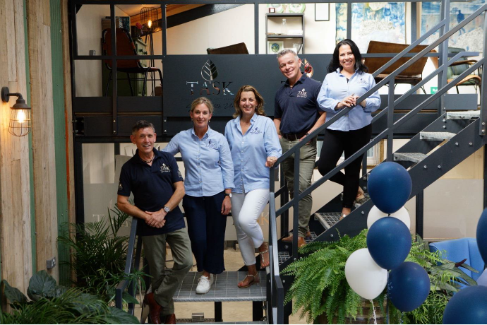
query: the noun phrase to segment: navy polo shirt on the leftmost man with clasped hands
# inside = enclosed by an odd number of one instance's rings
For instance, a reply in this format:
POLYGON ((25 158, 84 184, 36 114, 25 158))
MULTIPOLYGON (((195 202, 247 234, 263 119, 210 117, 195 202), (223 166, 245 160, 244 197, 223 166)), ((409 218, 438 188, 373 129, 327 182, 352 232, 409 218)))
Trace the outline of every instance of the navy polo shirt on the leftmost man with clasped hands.
MULTIPOLYGON (((150 166, 140 159, 137 150, 131 160, 124 163, 120 172, 118 194, 130 196, 132 192, 136 207, 142 211, 155 212, 164 208, 164 204, 174 194, 173 184, 183 181, 173 155, 155 149, 154 155, 150 166)), ((165 220, 162 228, 150 227, 143 220, 139 225, 138 235, 160 235, 185 227, 179 206, 167 213, 165 220)))

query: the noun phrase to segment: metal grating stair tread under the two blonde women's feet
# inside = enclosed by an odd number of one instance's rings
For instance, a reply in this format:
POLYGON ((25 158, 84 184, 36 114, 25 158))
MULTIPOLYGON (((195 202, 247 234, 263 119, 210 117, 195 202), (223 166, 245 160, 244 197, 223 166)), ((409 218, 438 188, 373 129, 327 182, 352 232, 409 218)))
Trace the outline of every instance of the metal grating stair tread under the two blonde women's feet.
POLYGON ((260 285, 241 289, 237 287, 237 283, 244 280, 246 274, 245 271, 224 271, 214 275, 215 282, 210 291, 205 295, 198 295, 196 286, 200 273, 189 272, 174 293, 174 302, 265 301, 267 299, 265 271, 259 271, 260 285))

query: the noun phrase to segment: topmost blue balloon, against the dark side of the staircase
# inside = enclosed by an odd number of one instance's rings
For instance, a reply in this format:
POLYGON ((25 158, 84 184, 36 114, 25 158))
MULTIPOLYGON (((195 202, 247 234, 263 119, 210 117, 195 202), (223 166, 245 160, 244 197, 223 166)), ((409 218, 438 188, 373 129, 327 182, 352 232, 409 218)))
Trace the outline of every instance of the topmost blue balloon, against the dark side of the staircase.
POLYGON ((368 194, 377 208, 395 213, 409 200, 413 183, 409 172, 397 162, 383 162, 368 177, 368 194))

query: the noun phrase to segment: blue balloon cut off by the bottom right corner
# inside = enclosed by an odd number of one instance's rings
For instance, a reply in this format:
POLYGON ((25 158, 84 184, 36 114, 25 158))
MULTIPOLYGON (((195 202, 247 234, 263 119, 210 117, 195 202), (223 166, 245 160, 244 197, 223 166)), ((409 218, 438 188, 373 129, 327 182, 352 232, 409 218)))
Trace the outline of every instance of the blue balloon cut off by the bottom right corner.
POLYGON ((455 293, 443 312, 443 324, 487 324, 487 288, 474 285, 455 293))

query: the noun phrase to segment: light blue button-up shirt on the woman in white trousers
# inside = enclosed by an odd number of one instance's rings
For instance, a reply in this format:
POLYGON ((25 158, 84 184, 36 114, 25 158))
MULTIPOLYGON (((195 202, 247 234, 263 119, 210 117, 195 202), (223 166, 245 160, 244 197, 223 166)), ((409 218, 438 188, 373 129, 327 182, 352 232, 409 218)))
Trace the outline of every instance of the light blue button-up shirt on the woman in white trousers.
POLYGON ((272 119, 253 114, 251 126, 242 134, 240 117, 232 119, 225 126, 234 161, 235 193, 248 193, 254 189, 269 188, 269 167, 265 167, 267 157, 282 155, 276 127, 272 119))

